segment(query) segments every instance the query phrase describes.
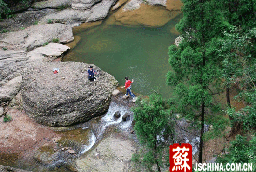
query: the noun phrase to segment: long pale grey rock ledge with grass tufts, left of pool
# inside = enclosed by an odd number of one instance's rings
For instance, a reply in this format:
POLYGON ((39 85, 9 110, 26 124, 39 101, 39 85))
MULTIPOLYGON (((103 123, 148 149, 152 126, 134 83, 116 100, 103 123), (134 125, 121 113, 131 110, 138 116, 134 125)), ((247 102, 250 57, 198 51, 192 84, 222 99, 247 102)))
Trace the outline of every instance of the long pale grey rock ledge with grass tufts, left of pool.
POLYGON ((0 48, 31 51, 54 38, 59 43, 68 43, 74 40, 72 28, 60 23, 33 25, 25 30, 0 34, 0 48))

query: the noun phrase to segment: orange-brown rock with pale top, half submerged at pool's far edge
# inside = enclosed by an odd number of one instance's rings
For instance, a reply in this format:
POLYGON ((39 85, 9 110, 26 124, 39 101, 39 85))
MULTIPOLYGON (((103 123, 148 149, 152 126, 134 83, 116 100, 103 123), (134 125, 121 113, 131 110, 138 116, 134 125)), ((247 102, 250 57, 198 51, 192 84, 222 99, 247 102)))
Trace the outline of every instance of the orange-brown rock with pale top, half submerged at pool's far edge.
POLYGON ((117 25, 160 27, 182 13, 181 3, 175 6, 172 0, 166 1, 168 5, 163 3, 161 0, 152 0, 150 3, 146 0, 131 0, 113 14, 112 20, 117 25))

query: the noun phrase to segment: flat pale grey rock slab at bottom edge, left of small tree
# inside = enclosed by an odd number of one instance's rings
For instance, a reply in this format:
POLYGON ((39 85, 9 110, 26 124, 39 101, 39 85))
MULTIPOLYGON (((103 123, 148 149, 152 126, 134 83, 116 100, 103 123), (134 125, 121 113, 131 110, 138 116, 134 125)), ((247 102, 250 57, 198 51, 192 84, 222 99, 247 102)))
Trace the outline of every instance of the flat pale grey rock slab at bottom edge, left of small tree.
POLYGON ((128 172, 131 171, 131 158, 135 152, 134 142, 112 134, 105 136, 93 150, 81 155, 74 166, 78 172, 128 172))

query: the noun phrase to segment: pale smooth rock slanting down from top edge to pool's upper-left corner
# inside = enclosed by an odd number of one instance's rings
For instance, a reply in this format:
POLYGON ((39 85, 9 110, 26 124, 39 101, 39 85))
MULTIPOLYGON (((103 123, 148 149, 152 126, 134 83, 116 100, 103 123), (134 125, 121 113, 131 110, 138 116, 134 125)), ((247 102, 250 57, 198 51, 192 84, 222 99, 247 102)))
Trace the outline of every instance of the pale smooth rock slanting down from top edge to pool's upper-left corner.
POLYGON ((111 6, 113 6, 115 2, 116 0, 102 0, 100 3, 92 6, 92 13, 90 17, 86 20, 86 22, 102 20, 107 17, 111 6))

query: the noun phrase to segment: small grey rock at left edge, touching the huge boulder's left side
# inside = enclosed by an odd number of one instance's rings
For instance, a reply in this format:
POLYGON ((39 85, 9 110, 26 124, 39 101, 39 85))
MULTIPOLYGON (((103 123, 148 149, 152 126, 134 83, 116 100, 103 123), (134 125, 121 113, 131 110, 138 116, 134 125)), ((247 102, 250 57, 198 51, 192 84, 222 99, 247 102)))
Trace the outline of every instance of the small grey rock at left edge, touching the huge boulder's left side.
POLYGON ((20 91, 22 75, 10 80, 0 88, 0 102, 10 101, 20 91))

